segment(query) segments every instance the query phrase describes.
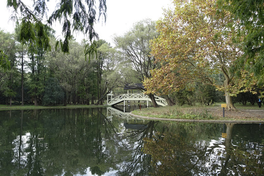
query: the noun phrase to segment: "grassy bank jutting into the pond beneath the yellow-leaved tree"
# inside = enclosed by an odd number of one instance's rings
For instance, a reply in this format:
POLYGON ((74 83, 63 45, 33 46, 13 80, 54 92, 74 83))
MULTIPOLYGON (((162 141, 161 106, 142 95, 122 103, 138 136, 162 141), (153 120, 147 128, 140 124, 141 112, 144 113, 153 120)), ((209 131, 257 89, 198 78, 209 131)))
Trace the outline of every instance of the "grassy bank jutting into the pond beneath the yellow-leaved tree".
POLYGON ((221 103, 212 106, 167 106, 159 108, 146 108, 134 110, 132 114, 165 118, 165 119, 188 119, 188 120, 242 120, 242 121, 264 121, 264 108, 260 109, 257 105, 240 105, 235 104, 237 111, 225 110, 223 117, 221 103))

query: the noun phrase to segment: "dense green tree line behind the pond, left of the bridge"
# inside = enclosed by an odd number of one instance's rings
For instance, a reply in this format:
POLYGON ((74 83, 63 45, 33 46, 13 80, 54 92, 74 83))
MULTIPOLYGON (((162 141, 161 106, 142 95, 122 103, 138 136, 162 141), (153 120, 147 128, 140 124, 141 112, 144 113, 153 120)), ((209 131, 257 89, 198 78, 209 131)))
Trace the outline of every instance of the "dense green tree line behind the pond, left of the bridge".
POLYGON ((98 40, 97 58, 88 62, 84 54, 86 41, 79 44, 71 40, 70 52, 65 54, 56 48, 54 37, 49 35, 50 50, 46 51, 36 41, 22 45, 16 34, 0 31, 0 47, 10 63, 8 69, 0 68, 0 103, 103 104, 119 78, 114 64, 115 50, 98 40))

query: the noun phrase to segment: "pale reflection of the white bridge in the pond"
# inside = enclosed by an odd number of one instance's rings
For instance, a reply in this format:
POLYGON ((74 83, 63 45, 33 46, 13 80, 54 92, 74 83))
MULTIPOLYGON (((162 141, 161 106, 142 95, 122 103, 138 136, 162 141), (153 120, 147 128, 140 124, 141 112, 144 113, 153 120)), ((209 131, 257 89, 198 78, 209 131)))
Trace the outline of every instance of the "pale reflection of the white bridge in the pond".
MULTIPOLYGON (((107 118, 112 120, 113 116, 116 116, 116 117, 119 117, 119 118, 122 118, 122 119, 126 119, 126 120, 131 120, 131 119, 140 119, 140 120, 142 120, 141 118, 137 118, 137 117, 134 117, 134 116, 130 115, 130 112, 126 112, 125 111, 125 108, 122 111, 122 110, 120 110, 118 108, 107 107, 107 118)), ((144 119, 143 119, 143 121, 144 121, 144 119)))

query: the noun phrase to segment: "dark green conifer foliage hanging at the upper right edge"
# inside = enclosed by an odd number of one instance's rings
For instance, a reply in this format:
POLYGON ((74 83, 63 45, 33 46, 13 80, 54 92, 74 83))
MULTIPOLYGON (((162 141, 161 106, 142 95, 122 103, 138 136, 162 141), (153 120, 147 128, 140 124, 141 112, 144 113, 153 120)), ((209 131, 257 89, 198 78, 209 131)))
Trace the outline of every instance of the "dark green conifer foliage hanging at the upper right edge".
POLYGON ((244 51, 236 66, 244 66, 254 73, 258 86, 264 84, 264 1, 263 0, 218 0, 224 9, 239 19, 238 37, 245 36, 242 42, 244 51))

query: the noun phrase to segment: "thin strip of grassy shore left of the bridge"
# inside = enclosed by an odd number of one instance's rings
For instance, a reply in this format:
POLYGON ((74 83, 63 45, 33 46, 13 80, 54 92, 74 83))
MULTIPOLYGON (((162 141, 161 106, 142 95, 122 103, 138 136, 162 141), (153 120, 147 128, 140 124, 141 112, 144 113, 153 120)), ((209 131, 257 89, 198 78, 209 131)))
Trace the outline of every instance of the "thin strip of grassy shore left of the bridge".
POLYGON ((104 108, 107 105, 67 105, 67 106, 34 106, 34 105, 24 105, 24 106, 9 106, 0 105, 0 110, 36 110, 36 109, 64 109, 64 108, 104 108))

